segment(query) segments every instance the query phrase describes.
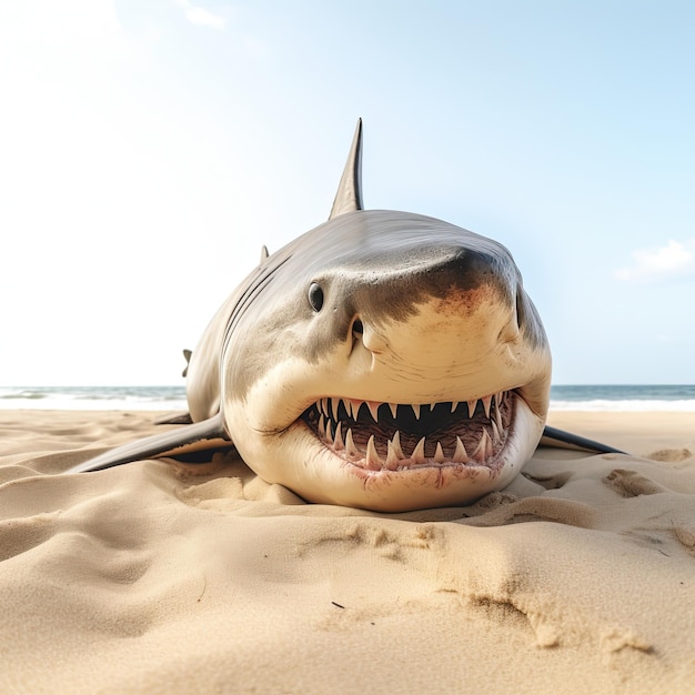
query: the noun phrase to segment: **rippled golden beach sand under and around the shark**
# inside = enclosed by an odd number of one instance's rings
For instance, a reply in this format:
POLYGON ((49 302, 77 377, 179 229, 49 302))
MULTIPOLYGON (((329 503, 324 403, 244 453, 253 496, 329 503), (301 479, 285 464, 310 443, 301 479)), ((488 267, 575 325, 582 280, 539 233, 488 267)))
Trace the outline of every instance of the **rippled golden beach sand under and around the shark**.
POLYGON ((153 417, 0 412, 1 693, 695 692, 695 414, 556 413, 635 455, 409 514, 231 455, 60 474, 153 417))

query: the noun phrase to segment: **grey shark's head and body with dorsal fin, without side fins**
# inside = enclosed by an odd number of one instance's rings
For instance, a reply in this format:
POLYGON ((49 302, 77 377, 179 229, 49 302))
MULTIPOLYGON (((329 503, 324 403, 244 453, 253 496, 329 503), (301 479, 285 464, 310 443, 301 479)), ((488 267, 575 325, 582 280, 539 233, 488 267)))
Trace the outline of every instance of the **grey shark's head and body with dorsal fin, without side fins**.
POLYGON ((263 254, 218 312, 191 414, 219 410, 248 465, 311 502, 465 504, 535 450, 547 340, 503 245, 362 209, 361 142, 359 124, 328 222, 263 254))

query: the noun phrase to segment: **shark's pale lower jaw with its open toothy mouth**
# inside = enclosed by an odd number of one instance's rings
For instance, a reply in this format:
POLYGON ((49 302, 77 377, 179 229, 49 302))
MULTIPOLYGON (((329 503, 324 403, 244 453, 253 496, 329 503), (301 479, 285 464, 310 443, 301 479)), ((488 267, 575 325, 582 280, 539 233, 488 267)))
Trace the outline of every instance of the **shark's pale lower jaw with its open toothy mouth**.
POLYGON ((266 481, 310 502, 390 513, 470 504, 508 485, 538 443, 544 416, 524 391, 430 403, 323 396, 236 444, 266 481))

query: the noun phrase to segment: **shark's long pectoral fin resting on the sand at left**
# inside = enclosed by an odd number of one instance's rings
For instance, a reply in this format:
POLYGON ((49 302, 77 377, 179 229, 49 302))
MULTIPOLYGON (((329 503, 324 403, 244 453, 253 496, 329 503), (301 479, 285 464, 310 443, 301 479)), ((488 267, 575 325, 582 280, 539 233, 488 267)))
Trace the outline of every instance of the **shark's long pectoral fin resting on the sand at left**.
POLYGON ((224 432, 222 414, 192 425, 184 425, 173 432, 155 434, 130 444, 117 446, 94 459, 80 463, 68 473, 101 471, 123 463, 160 456, 177 456, 208 449, 231 446, 232 442, 224 432))

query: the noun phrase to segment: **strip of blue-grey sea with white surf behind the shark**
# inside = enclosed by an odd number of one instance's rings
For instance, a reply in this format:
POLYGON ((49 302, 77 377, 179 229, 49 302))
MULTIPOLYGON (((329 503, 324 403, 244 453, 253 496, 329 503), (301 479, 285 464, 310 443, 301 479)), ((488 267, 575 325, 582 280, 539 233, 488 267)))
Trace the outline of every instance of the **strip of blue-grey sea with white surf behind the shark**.
MULTIPOLYGON (((0 410, 185 411, 180 386, 0 386, 0 410)), ((554 411, 695 412, 695 385, 553 386, 554 411)))

